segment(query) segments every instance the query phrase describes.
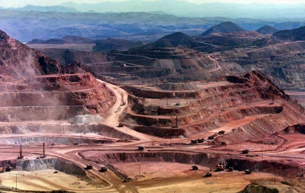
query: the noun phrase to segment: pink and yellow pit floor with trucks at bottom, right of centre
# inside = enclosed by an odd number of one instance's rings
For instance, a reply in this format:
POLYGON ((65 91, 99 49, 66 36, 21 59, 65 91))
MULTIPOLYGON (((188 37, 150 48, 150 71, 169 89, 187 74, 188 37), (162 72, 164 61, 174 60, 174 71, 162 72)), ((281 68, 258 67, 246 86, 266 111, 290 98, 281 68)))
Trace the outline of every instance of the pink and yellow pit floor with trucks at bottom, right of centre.
MULTIPOLYGON (((255 180, 273 181, 274 175, 261 172, 253 172, 246 175, 243 171, 212 172, 212 177, 203 177, 209 169, 199 166, 195 173, 189 170, 192 165, 166 162, 142 162, 140 163, 141 175, 138 181, 131 182, 139 192, 238 192, 255 180), (146 172, 146 173, 144 173, 146 172)), ((139 163, 119 163, 115 167, 124 171, 131 178, 139 175, 139 163)), ((276 182, 283 180, 276 177, 276 182)))

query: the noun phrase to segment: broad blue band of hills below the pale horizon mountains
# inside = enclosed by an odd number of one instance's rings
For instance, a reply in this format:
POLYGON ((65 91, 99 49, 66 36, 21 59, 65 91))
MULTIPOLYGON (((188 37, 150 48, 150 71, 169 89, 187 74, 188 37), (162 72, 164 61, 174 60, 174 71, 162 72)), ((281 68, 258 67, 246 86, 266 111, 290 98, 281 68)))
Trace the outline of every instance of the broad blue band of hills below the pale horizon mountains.
POLYGON ((60 39, 64 36, 94 39, 116 37, 152 42, 160 39, 163 35, 178 31, 198 36, 204 30, 226 21, 236 23, 245 30, 257 30, 265 25, 274 26, 279 30, 294 29, 305 25, 305 21, 278 23, 247 18, 190 18, 148 12, 58 13, 7 9, 2 9, 0 12, 2 29, 11 37, 22 42, 33 39, 60 39))

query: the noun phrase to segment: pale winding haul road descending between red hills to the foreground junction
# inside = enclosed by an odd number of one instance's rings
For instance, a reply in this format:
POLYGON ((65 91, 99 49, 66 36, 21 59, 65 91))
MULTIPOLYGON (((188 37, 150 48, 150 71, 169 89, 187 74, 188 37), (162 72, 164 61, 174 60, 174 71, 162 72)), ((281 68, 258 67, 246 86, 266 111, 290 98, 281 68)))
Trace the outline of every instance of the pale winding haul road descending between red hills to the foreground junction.
MULTIPOLYGON (((219 65, 218 61, 216 59, 213 59, 208 56, 216 65, 215 69, 217 70, 221 68, 219 65)), ((137 146, 142 145, 142 146, 153 146, 154 143, 156 144, 161 144, 161 143, 169 143, 170 139, 162 139, 150 135, 146 135, 144 133, 136 132, 130 128, 126 127, 117 127, 119 122, 119 116, 120 112, 116 112, 117 108, 121 108, 122 111, 127 108, 128 105, 128 94, 124 89, 121 89, 118 86, 112 85, 110 83, 104 82, 102 80, 99 80, 99 82, 106 84, 106 86, 114 93, 116 96, 116 102, 113 105, 113 107, 110 109, 111 113, 109 117, 105 119, 104 125, 108 125, 110 127, 113 127, 114 129, 120 131, 120 132, 127 132, 129 135, 132 135, 138 139, 139 141, 133 141, 130 143, 114 143, 114 144, 105 144, 104 146, 86 146, 86 147, 54 147, 54 148, 48 148, 47 149, 47 155, 51 157, 57 157, 61 158, 64 160, 69 160, 73 161, 80 167, 86 167, 87 164, 91 163, 93 165, 92 170, 87 170, 87 174, 93 178, 95 178, 96 181, 99 181, 100 183, 109 183, 109 186, 106 186, 105 188, 99 189, 99 192, 135 192, 137 193, 137 183, 122 183, 122 180, 119 179, 112 171, 108 170, 107 172, 101 173, 98 170, 102 165, 97 164, 95 162, 87 161, 84 160, 81 156, 79 156, 79 153, 86 152, 86 151, 94 151, 94 150, 107 150, 107 151, 123 151, 124 150, 135 150, 137 146), (126 102, 126 105, 122 106, 122 102, 126 102), (119 150, 118 150, 119 149, 119 150)), ((173 139, 171 140, 172 142, 179 142, 181 139, 173 139)), ((188 151, 192 152, 198 152, 198 153, 218 153, 218 154, 227 154, 227 151, 220 151, 220 150, 213 150, 213 149, 206 149, 207 145, 200 145, 200 146, 164 146, 162 151, 170 151, 170 152, 183 152, 185 151, 186 153, 188 151)), ((293 147, 291 147, 293 148, 293 147)), ((291 148, 282 148, 278 149, 277 151, 267 151, 263 153, 263 156, 282 156, 282 157, 291 157, 293 155, 287 154, 289 152, 289 149, 291 148)), ((19 153, 19 148, 9 148, 9 149, 3 149, 0 148, 1 153, 19 153)), ((41 149, 38 148, 23 148, 23 152, 26 154, 40 154, 41 149)), ((230 152, 230 154, 235 155, 235 156, 240 156, 240 152, 230 152)), ((304 156, 293 156, 296 159, 304 160, 304 156)), ((145 182, 149 183, 149 182, 145 182)), ((152 182, 151 185, 153 185, 154 182, 152 182)), ((56 184, 54 184, 56 186, 56 184)), ((58 188, 63 188, 58 186, 58 188)), ((96 188, 92 189, 84 189, 84 190, 79 190, 79 189, 69 189, 65 188, 66 190, 69 191, 76 191, 76 192, 96 192, 96 188)))

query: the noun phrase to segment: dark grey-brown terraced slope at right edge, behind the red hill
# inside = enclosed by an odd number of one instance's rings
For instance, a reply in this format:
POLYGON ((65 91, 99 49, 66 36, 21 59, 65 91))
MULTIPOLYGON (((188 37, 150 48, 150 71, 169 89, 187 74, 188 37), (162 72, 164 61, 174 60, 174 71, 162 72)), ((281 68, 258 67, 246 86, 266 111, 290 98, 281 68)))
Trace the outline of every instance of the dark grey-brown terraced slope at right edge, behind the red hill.
POLYGON ((259 69, 283 90, 305 88, 305 41, 279 44, 251 52, 226 51, 222 64, 240 65, 246 71, 259 69))

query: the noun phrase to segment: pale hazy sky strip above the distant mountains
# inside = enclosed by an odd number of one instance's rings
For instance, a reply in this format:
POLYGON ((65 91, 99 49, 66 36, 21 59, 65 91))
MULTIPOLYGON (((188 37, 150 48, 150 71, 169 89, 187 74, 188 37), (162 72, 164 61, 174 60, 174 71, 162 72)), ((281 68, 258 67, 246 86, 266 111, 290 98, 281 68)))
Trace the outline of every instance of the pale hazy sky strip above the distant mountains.
MULTIPOLYGON (((0 0, 0 6, 4 7, 23 7, 25 5, 41 5, 41 6, 49 6, 49 5, 58 5, 63 2, 75 2, 75 3, 98 3, 103 1, 126 1, 126 0, 0 0)), ((150 0, 146 0, 150 1, 150 0)), ((167 1, 167 0, 162 0, 167 1)), ((305 3, 304 0, 186 0, 188 2, 193 2, 197 4, 206 3, 206 2, 221 2, 221 3, 305 3)))

